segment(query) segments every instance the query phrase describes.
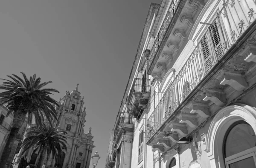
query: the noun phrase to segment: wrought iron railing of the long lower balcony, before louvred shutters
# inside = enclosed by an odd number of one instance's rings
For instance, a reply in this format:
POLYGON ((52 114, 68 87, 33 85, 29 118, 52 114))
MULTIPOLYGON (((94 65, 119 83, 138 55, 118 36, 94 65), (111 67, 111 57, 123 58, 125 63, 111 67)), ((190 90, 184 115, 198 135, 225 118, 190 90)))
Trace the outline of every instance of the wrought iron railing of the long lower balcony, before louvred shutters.
POLYGON ((192 54, 148 118, 147 140, 207 76, 212 67, 255 20, 254 0, 226 0, 192 54))

